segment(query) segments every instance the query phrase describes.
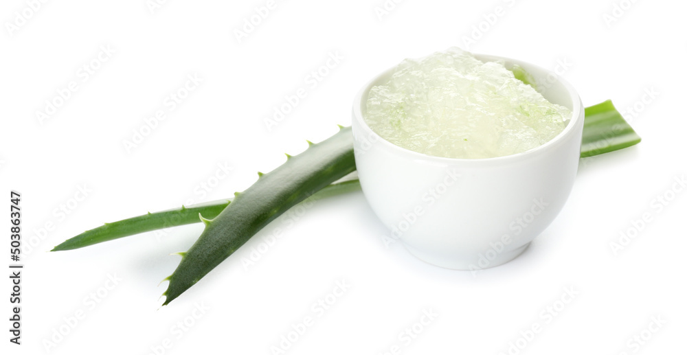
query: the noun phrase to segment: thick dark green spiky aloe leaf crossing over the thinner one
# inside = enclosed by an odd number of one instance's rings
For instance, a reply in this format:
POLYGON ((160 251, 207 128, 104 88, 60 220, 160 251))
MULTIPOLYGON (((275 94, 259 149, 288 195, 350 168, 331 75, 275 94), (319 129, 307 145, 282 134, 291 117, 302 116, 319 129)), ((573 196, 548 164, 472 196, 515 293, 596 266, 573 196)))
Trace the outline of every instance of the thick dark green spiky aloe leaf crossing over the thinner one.
POLYGON ((311 144, 284 165, 262 174, 254 185, 237 193, 216 218, 201 216, 205 229, 192 247, 181 253, 179 266, 167 277, 163 305, 196 284, 280 214, 354 170, 351 129, 341 127, 336 135, 311 144))

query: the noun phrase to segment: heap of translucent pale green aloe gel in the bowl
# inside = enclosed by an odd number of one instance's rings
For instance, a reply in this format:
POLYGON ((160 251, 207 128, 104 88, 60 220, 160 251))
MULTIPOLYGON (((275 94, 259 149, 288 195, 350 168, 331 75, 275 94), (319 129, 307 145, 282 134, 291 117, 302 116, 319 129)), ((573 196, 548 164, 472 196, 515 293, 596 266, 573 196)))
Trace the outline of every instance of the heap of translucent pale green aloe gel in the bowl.
POLYGON ((561 133, 572 113, 518 80, 503 62, 458 48, 401 62, 370 89, 365 122, 416 152, 484 159, 526 152, 561 133))

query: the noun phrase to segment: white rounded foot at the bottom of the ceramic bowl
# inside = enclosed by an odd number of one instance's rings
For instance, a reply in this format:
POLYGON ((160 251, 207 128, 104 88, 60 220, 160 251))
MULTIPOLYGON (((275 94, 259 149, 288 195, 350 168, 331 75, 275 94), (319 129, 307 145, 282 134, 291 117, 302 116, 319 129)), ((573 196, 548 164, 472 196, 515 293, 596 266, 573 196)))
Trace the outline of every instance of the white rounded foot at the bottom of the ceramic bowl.
POLYGON ((451 270, 479 271, 484 268, 493 268, 494 266, 499 266, 502 264, 506 264, 506 262, 510 262, 510 260, 515 259, 518 255, 523 253, 523 251, 525 251, 525 249, 527 249, 527 247, 530 246, 530 243, 527 243, 513 251, 499 253, 491 259, 488 259, 486 256, 480 254, 480 257, 477 260, 467 260, 458 257, 441 257, 425 253, 424 251, 419 251, 418 249, 410 247, 408 244, 405 243, 403 243, 403 246, 405 247, 405 249, 407 249, 407 251, 409 251, 418 259, 435 266, 440 266, 442 268, 450 268, 451 270))

